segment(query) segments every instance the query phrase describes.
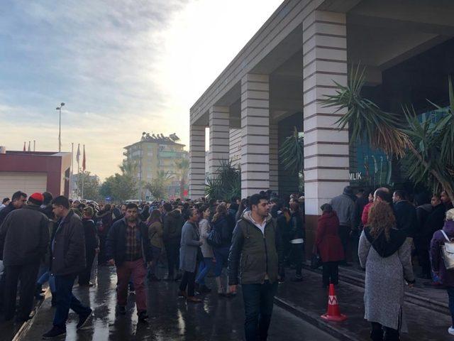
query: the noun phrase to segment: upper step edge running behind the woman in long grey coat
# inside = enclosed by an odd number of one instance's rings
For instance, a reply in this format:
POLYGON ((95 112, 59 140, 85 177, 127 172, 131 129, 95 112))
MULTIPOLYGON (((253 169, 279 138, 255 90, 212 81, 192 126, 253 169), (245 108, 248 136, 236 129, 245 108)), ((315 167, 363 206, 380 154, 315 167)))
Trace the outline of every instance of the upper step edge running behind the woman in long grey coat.
MULTIPOLYGON (((321 272, 311 269, 311 266, 308 266, 307 264, 303 264, 303 267, 304 267, 304 269, 312 271, 316 274, 321 274, 321 272)), ((353 284, 354 286, 358 286, 360 288, 364 288, 365 280, 361 276, 354 276, 351 274, 339 273, 339 280, 346 282, 346 283, 353 284)), ((436 311, 437 313, 450 315, 448 303, 434 301, 434 300, 431 300, 430 298, 425 298, 423 296, 417 295, 416 293, 409 293, 407 291, 404 292, 404 300, 407 303, 412 303, 412 304, 418 305, 422 308, 436 311)))

